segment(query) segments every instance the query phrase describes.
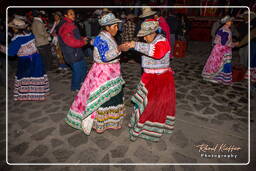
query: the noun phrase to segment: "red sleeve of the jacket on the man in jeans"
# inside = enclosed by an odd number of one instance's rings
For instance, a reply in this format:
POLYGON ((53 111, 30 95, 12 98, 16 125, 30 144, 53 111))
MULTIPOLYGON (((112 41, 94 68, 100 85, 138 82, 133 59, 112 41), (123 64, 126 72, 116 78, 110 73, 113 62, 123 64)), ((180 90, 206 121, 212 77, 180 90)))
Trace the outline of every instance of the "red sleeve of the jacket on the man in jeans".
POLYGON ((80 48, 85 45, 84 40, 76 39, 74 36, 74 30, 76 26, 74 24, 65 23, 59 30, 59 35, 61 36, 64 43, 72 48, 80 48))

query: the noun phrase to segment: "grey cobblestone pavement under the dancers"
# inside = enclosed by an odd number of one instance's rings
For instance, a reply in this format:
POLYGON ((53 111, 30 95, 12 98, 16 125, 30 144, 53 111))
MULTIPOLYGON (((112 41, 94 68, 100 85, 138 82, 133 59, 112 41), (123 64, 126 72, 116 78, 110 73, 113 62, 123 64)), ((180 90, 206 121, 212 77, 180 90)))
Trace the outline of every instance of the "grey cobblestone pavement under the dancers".
MULTIPOLYGON (((122 63, 126 113, 123 128, 90 136, 64 123, 73 101, 71 73, 48 73, 50 96, 43 102, 13 101, 13 75, 9 76, 8 162, 9 163, 247 163, 248 162, 248 84, 247 81, 222 86, 202 80, 201 71, 210 52, 208 43, 191 42, 185 58, 175 58, 177 90, 176 125, 172 135, 158 143, 128 137, 130 102, 140 80, 140 65, 133 60, 122 63), (198 48, 200 47, 200 48, 198 48), (239 146, 236 159, 201 157, 196 145, 227 144, 239 146)), ((234 55, 235 56, 235 55, 234 55)), ((3 91, 2 91, 3 90, 3 91)), ((4 97, 1 89, 1 97, 4 97)), ((255 98, 251 98, 251 104, 255 98)), ((1 168, 3 170, 202 170, 227 171, 242 166, 7 166, 5 159, 5 99, 0 101, 1 168)), ((251 105, 252 110, 256 111, 251 105)), ((253 113, 253 112, 252 112, 253 113)), ((255 116, 251 124, 255 131, 255 116)), ((255 159, 255 140, 251 141, 255 159)), ((218 154, 230 154, 218 152, 218 154)), ((208 152, 208 154, 212 154, 208 152)), ((214 154, 214 153, 213 153, 214 154)), ((255 162, 255 160, 253 160, 255 162)), ((255 163, 254 163, 255 164, 255 163)), ((248 167, 247 167, 248 168, 248 167)))

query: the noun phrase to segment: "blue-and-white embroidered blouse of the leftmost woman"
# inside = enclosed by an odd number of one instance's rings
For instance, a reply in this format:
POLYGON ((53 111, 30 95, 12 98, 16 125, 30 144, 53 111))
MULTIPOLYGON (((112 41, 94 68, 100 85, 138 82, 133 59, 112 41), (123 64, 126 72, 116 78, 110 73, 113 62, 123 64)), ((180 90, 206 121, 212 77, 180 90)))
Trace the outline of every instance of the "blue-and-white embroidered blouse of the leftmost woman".
POLYGON ((35 36, 33 34, 16 35, 8 46, 9 56, 31 56, 37 53, 35 36))

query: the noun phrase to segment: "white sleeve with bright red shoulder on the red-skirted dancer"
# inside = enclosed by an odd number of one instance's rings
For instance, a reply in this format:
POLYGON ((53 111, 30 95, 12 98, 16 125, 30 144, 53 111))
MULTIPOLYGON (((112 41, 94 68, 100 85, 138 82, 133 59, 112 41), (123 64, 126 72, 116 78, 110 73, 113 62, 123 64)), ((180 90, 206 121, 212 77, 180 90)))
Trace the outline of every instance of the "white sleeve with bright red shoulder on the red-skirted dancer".
POLYGON ((161 59, 170 51, 170 46, 168 41, 158 41, 156 43, 136 42, 134 49, 154 59, 161 59))

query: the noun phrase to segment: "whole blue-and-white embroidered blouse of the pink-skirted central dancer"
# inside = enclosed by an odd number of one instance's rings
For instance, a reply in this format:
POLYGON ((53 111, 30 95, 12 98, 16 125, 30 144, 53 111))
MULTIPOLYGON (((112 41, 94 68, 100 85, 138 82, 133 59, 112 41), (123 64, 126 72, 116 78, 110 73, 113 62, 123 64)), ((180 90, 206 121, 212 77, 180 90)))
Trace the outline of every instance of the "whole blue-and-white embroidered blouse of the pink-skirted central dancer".
POLYGON ((100 32, 100 34, 94 39, 93 42, 93 58, 97 63, 116 63, 121 52, 117 48, 116 41, 110 33, 106 31, 100 32))

